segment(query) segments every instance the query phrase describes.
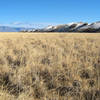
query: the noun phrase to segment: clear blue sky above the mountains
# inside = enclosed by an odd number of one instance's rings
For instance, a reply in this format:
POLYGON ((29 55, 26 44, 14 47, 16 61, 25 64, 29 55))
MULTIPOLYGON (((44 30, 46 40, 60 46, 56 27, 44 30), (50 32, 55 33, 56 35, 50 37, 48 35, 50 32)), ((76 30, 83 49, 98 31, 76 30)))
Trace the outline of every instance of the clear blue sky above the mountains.
POLYGON ((0 24, 100 21, 100 0, 0 0, 0 24))

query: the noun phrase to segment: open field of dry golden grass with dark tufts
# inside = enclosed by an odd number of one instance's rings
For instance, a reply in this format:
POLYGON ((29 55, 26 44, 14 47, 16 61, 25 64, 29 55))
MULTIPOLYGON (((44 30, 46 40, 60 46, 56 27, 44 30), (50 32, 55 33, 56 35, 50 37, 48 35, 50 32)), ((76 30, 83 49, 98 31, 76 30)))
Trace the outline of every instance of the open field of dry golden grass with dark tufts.
POLYGON ((100 100, 100 34, 0 33, 0 100, 100 100))

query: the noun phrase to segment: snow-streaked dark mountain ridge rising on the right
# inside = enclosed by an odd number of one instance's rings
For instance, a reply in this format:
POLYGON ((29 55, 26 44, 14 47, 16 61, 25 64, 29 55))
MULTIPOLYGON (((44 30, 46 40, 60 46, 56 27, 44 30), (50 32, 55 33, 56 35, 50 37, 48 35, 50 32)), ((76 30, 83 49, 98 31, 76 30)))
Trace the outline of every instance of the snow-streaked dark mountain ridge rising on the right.
POLYGON ((100 32, 100 21, 95 23, 69 23, 57 26, 48 26, 43 29, 36 29, 32 32, 100 32))

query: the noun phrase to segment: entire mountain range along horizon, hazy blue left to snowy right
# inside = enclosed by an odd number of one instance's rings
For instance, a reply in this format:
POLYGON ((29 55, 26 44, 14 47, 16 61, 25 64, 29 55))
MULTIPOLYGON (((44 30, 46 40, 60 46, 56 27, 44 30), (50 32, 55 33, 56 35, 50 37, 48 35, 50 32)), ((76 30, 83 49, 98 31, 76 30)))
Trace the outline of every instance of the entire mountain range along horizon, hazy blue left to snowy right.
POLYGON ((100 21, 94 23, 72 22, 68 24, 49 25, 45 28, 24 28, 0 26, 0 32, 100 32, 100 21))

